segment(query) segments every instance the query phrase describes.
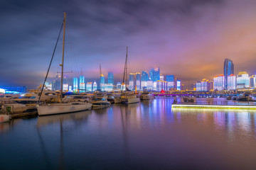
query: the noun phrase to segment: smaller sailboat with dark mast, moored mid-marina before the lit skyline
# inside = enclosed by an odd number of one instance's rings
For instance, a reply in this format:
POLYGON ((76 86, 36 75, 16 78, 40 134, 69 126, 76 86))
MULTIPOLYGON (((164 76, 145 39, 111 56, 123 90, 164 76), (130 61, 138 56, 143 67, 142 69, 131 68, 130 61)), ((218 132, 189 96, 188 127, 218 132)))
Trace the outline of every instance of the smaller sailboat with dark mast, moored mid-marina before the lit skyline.
MULTIPOLYGON (((129 91, 127 88, 127 59, 128 59, 128 47, 127 47, 127 55, 125 58, 125 64, 124 64, 124 77, 125 77, 125 91, 120 96, 122 103, 139 103, 140 99, 134 94, 134 91, 129 91)), ((124 77, 122 85, 124 85, 124 77)), ((115 102, 115 101, 114 101, 115 102)))

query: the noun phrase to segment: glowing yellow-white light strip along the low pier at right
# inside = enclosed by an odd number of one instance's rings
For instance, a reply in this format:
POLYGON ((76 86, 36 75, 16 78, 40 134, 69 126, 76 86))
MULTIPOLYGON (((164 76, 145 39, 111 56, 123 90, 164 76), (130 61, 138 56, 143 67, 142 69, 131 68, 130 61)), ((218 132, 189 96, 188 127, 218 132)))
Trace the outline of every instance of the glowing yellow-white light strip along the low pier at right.
POLYGON ((171 108, 201 108, 201 109, 242 109, 242 110, 256 110, 256 106, 227 106, 227 105, 182 105, 172 104, 171 108))

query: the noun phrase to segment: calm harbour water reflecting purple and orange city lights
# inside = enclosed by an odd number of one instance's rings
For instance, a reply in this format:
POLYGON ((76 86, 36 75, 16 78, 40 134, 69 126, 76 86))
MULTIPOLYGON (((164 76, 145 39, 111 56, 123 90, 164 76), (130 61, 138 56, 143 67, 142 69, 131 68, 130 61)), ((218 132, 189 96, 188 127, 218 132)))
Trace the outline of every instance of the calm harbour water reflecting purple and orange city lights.
POLYGON ((0 169, 256 169, 255 112, 173 100, 1 123, 0 169))

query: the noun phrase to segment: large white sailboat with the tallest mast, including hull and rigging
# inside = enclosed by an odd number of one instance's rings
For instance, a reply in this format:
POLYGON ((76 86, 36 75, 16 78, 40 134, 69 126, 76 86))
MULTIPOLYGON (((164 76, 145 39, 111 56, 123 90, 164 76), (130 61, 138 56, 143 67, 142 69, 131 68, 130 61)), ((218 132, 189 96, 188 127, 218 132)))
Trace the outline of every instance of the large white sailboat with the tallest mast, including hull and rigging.
MULTIPOLYGON (((90 110, 92 108, 92 103, 88 103, 87 101, 85 102, 61 102, 62 101, 62 92, 63 92, 63 64, 64 64, 64 44, 65 44, 65 18, 66 18, 66 13, 64 13, 64 20, 63 20, 63 26, 61 26, 61 28, 63 27, 63 58, 62 58, 62 64, 60 64, 61 66, 61 88, 60 88, 60 103, 53 103, 53 104, 48 104, 48 105, 40 105, 37 106, 38 109, 38 115, 54 115, 54 114, 61 114, 61 113, 74 113, 74 112, 78 112, 78 111, 86 111, 86 110, 90 110)), ((60 29, 61 31, 61 29, 60 29)), ((60 37, 60 33, 58 35, 58 39, 60 37)), ((58 43, 58 40, 56 42, 56 45, 58 43)), ((56 46, 55 46, 56 47, 56 46)), ((55 50, 54 50, 55 52, 55 50)), ((53 55, 54 55, 53 52, 53 55)), ((53 57, 50 61, 50 64, 53 60, 53 57)), ((50 66, 48 68, 48 72, 49 72, 50 66)), ((48 72, 46 74, 46 79, 48 76, 48 72)), ((46 83, 46 79, 43 83, 43 87, 46 83)), ((43 87, 42 87, 42 91, 41 94, 43 94, 43 87)), ((39 96, 39 100, 40 100, 39 96)))

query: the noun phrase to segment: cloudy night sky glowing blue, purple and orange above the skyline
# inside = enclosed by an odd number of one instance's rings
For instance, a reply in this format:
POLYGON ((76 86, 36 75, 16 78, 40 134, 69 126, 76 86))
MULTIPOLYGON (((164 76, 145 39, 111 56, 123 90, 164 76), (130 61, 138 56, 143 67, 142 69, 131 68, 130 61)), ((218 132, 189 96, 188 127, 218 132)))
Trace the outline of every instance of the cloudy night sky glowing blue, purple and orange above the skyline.
MULTIPOLYGON (((91 81, 114 72, 121 79, 129 47, 129 72, 160 67, 183 83, 223 74, 256 74, 255 0, 75 0, 0 2, 0 86, 43 82, 67 13, 65 71, 91 81)), ((62 38, 61 38, 62 40, 62 38)), ((61 40, 50 77, 60 71, 61 40)))

